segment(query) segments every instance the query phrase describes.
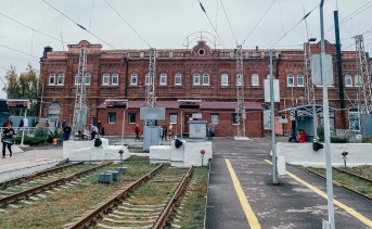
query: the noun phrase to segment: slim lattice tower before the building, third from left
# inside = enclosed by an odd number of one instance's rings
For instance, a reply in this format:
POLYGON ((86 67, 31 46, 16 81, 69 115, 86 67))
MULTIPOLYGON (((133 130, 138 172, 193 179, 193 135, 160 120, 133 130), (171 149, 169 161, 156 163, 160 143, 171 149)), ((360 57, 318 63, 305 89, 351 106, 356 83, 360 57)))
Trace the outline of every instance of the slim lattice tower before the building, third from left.
POLYGON ((236 122, 238 136, 245 138, 244 77, 242 46, 236 47, 236 122))

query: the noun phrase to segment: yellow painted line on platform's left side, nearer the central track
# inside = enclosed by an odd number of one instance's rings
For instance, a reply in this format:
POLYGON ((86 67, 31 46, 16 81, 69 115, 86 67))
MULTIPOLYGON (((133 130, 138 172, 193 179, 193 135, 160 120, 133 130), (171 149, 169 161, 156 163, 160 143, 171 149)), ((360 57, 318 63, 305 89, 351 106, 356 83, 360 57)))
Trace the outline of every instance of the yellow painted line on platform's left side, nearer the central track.
POLYGON ((248 220, 248 224, 251 226, 252 229, 260 229, 261 226, 259 225, 259 221, 255 215, 255 213, 252 211, 252 207, 248 203, 248 200, 246 199, 245 194, 244 194, 244 191, 241 187, 241 183, 235 175, 235 171, 234 169, 232 168, 231 166, 231 163, 229 160, 225 160, 226 161, 226 164, 228 166, 228 169, 230 171, 230 176, 231 176, 231 179, 232 179, 232 182, 234 183, 234 188, 235 188, 235 191, 236 191, 236 194, 238 194, 238 198, 239 198, 239 201, 241 202, 241 205, 243 207, 243 211, 245 213, 245 216, 248 220))

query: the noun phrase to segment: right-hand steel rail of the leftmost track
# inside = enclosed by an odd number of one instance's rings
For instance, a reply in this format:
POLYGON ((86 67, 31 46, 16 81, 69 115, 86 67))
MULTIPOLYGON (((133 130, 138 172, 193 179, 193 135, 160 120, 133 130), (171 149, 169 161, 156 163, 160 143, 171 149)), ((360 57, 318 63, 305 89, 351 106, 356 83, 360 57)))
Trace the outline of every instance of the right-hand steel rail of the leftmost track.
POLYGON ((106 162, 106 163, 103 163, 101 165, 94 166, 93 168, 89 168, 87 170, 79 171, 77 174, 70 175, 68 177, 64 177, 64 178, 61 178, 61 179, 57 179, 57 180, 54 180, 54 181, 51 181, 51 182, 48 182, 48 183, 35 187, 33 189, 29 189, 29 190, 26 190, 26 191, 23 191, 23 192, 18 192, 18 193, 5 196, 3 199, 0 199, 0 206, 1 207, 7 206, 8 204, 14 203, 14 202, 16 202, 16 201, 18 201, 21 199, 28 198, 28 196, 31 196, 34 194, 40 193, 40 192, 42 192, 44 190, 49 190, 49 189, 54 188, 56 186, 64 185, 64 183, 70 181, 70 180, 74 180, 76 178, 85 176, 85 175, 89 174, 92 170, 95 170, 95 169, 98 169, 100 167, 103 167, 103 166, 106 166, 106 165, 110 165, 110 164, 112 164, 112 162, 108 162, 108 163, 106 162))

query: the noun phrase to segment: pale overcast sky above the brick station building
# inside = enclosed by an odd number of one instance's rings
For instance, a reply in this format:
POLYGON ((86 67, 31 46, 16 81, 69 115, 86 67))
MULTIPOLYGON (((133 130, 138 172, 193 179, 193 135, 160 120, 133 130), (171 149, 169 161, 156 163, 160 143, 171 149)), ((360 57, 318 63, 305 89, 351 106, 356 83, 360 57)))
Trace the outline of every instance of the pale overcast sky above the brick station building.
MULTIPOLYGON (((307 17, 308 35, 305 21, 300 22, 304 15, 315 9, 320 1, 201 0, 201 2, 227 49, 235 48, 236 42, 241 44, 243 40, 245 40, 243 49, 256 46, 265 49, 303 49, 303 43, 308 37, 320 40, 319 7, 307 17), (266 16, 262 17, 268 9, 266 16), (299 24, 290 31, 297 23, 299 24), (286 36, 278 42, 284 35, 286 36)), ((372 36, 369 36, 371 33, 368 30, 372 30, 372 1, 325 0, 325 39, 331 42, 335 42, 333 11, 337 8, 339 22, 345 21, 341 24, 343 50, 355 50, 352 36, 365 33, 365 51, 370 52, 372 36)), ((149 49, 149 46, 156 49, 182 49, 185 38, 195 31, 209 31, 217 36, 207 16, 202 11, 198 0, 0 0, 0 76, 5 75, 11 64, 16 67, 18 74, 25 71, 28 63, 39 69, 39 58, 42 55, 43 47, 51 46, 54 51, 62 51, 67 50, 67 44, 78 43, 80 40, 101 43, 106 50, 149 49), (93 35, 78 27, 46 2, 93 35)), ((213 43, 208 44, 213 47, 213 43)), ((0 86, 3 87, 2 81, 0 86)), ((1 93, 0 98, 4 98, 4 94, 1 93)))

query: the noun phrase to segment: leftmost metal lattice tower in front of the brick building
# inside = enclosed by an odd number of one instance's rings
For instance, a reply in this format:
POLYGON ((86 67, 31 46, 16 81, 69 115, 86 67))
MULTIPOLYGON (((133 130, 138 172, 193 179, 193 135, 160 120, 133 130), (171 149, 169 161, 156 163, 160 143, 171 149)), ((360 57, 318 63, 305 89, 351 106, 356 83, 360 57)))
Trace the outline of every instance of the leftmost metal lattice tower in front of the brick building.
POLYGON ((86 110, 86 72, 87 72, 87 50, 81 49, 79 55, 79 68, 76 84, 76 99, 74 107, 73 133, 77 132, 80 128, 85 129, 84 120, 87 115, 86 110))

